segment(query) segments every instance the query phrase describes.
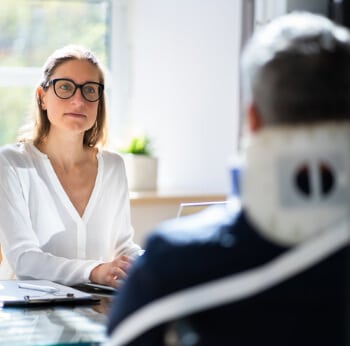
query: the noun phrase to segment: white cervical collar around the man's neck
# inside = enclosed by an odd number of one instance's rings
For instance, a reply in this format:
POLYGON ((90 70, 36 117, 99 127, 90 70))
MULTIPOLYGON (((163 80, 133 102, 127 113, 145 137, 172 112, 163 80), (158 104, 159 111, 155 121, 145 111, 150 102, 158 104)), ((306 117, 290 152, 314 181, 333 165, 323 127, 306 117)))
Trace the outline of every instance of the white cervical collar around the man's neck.
POLYGON ((290 246, 350 220, 350 124, 262 129, 245 152, 241 201, 263 236, 290 246))

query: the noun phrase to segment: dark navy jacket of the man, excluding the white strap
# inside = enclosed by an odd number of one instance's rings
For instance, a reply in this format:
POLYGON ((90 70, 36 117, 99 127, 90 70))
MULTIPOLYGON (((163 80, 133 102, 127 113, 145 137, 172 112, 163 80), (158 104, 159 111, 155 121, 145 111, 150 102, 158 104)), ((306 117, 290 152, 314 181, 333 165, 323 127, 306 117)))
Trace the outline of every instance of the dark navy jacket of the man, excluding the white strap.
MULTIPOLYGON (((109 334, 147 303, 261 266, 288 251, 263 238, 244 212, 233 215, 217 207, 163 223, 145 249, 114 298, 109 334)), ((277 286, 164 323, 129 345, 166 345, 170 331, 181 338, 190 330, 196 335, 192 345, 201 346, 348 346, 349 253, 347 246, 277 286)))

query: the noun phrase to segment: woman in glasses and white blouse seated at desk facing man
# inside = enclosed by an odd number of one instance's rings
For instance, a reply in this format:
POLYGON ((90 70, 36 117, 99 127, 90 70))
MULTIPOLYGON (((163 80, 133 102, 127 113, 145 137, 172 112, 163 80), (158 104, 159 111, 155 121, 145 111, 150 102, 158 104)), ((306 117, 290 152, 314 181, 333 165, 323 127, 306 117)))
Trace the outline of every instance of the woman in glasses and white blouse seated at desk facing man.
POLYGON ((105 135, 98 61, 79 46, 55 51, 36 90, 31 135, 0 150, 2 279, 118 287, 126 276, 140 247, 124 164, 101 149, 105 135))

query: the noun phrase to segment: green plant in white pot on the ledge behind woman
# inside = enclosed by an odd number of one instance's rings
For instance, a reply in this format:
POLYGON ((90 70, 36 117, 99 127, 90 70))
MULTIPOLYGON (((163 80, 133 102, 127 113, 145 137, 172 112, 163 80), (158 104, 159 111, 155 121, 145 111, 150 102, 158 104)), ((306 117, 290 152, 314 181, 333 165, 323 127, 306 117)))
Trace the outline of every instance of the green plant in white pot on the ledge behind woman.
POLYGON ((131 138, 129 145, 121 149, 124 157, 129 190, 150 191, 157 189, 158 159, 153 155, 148 136, 131 138))

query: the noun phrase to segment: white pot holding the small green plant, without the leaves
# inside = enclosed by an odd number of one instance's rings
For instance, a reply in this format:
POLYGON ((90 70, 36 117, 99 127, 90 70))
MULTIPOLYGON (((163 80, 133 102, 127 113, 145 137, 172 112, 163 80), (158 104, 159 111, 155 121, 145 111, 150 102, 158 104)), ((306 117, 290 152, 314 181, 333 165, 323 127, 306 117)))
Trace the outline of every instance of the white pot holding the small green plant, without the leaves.
POLYGON ((157 189, 158 159, 146 155, 123 155, 130 191, 157 189))

